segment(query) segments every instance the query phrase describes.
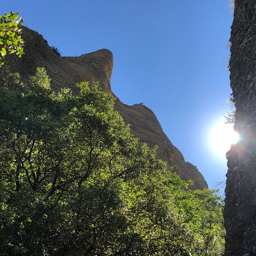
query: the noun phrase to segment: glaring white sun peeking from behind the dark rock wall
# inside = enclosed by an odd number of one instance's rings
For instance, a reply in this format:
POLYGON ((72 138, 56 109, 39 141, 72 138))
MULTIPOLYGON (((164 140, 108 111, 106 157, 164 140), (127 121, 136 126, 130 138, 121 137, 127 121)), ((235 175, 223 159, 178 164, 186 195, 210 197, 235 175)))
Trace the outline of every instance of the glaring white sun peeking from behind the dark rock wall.
POLYGON ((214 152, 222 158, 229 151, 232 144, 236 144, 240 139, 240 135, 234 131, 230 123, 224 123, 223 120, 218 121, 210 131, 210 144, 214 152))

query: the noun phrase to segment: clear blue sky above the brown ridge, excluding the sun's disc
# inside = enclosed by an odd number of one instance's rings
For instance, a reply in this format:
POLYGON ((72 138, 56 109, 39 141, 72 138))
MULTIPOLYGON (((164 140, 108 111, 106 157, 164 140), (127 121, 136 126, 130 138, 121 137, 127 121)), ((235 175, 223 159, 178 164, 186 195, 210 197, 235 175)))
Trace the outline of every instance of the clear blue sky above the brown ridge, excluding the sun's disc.
POLYGON ((213 188, 227 169, 208 137, 229 110, 228 6, 229 0, 12 0, 0 14, 19 12, 64 56, 110 49, 113 92, 125 104, 152 109, 213 188))

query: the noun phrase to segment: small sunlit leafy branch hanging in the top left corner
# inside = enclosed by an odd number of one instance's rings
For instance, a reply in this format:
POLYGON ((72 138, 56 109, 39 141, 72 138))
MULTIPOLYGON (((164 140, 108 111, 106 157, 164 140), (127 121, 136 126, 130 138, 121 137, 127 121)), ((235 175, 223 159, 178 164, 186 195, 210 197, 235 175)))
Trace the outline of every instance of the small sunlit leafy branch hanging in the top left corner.
POLYGON ((0 16, 0 67, 4 64, 3 58, 7 52, 16 53, 21 57, 23 52, 23 40, 20 36, 22 28, 20 25, 23 20, 19 18, 18 13, 11 11, 10 14, 5 13, 0 16))

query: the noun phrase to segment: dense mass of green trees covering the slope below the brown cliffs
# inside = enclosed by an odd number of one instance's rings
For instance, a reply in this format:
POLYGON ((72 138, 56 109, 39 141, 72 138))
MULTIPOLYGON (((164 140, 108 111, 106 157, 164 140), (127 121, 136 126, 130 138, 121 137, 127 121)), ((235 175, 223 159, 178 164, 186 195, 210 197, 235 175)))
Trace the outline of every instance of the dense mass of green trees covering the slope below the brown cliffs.
POLYGON ((222 255, 222 202, 166 170, 98 84, 0 82, 1 255, 222 255))

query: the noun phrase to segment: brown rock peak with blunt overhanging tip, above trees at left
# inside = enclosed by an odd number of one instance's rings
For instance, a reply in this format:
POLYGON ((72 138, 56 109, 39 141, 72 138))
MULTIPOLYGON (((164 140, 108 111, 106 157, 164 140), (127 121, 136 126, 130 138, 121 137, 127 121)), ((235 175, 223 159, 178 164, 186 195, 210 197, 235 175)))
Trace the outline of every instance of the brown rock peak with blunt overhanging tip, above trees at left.
POLYGON ((22 37, 25 40, 26 54, 21 59, 10 55, 6 59, 5 69, 27 77, 35 73, 36 67, 45 67, 54 89, 65 86, 75 88, 76 82, 81 81, 99 81, 102 89, 111 91, 113 54, 108 49, 100 49, 79 57, 61 57, 38 32, 23 27, 22 37))

